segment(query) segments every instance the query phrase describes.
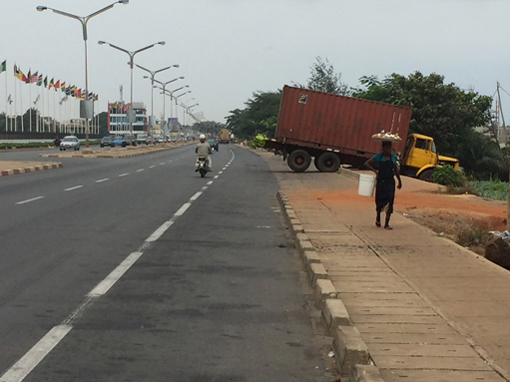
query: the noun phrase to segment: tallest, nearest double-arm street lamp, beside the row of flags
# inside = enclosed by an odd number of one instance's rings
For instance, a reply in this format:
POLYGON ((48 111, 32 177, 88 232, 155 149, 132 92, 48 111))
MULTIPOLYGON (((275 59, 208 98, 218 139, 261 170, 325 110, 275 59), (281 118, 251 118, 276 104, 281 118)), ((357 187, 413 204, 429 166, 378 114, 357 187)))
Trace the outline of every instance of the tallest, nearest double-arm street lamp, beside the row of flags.
POLYGON ((77 15, 73 15, 71 13, 59 11, 58 9, 45 7, 43 5, 39 5, 36 8, 39 12, 43 12, 43 11, 46 11, 46 10, 51 10, 54 13, 57 13, 59 15, 67 16, 67 17, 70 17, 72 19, 76 19, 79 22, 81 22, 81 25, 82 25, 82 28, 83 28, 83 41, 85 42, 85 93, 86 93, 86 96, 85 96, 85 101, 83 101, 83 100, 81 101, 84 106, 82 108, 83 115, 80 115, 80 117, 83 118, 83 116, 85 116, 85 139, 86 139, 85 146, 86 146, 87 149, 89 148, 89 119, 94 117, 94 106, 93 106, 94 105, 94 103, 93 103, 94 101, 91 101, 89 99, 89 71, 88 71, 88 49, 87 49, 88 33, 87 33, 87 24, 88 24, 89 20, 92 17, 97 16, 97 15, 107 11, 108 9, 113 8, 117 4, 124 4, 124 5, 126 5, 126 4, 129 4, 129 0, 119 0, 119 1, 116 1, 115 3, 108 5, 107 7, 104 7, 103 9, 100 9, 97 12, 91 13, 88 16, 77 16, 77 15), (88 106, 88 105, 92 105, 92 106, 88 106))

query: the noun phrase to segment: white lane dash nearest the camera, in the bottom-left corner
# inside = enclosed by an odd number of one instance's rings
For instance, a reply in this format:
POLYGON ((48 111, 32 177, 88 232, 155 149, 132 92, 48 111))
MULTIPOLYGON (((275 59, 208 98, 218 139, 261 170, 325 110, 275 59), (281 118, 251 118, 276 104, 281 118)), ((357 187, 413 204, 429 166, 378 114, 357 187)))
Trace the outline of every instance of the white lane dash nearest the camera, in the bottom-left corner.
POLYGON ((21 382, 72 329, 70 325, 53 327, 0 378, 0 382, 21 382))

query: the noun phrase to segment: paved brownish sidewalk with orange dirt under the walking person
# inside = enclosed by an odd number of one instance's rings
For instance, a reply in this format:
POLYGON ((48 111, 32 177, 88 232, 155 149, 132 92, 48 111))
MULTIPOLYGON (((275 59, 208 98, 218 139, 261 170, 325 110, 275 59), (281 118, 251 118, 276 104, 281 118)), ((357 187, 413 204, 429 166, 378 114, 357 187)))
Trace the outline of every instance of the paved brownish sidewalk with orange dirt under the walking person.
MULTIPOLYGON (((510 380, 508 271, 401 214, 392 216, 393 231, 376 228, 374 201, 357 195, 355 179, 293 173, 280 157, 258 154, 279 181, 344 375, 386 382, 510 380), (353 367, 371 362, 378 371, 353 367)), ((403 181, 408 188, 423 184, 403 181)), ((397 204, 398 198, 397 192, 397 204)))

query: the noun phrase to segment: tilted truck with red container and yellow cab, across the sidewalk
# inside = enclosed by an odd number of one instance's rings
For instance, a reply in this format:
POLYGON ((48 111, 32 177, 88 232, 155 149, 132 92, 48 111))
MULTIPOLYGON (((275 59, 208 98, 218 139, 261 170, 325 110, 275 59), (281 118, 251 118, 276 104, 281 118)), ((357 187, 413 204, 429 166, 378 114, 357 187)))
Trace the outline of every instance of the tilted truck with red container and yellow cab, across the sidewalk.
POLYGON ((403 175, 431 180, 433 168, 441 163, 458 168, 455 158, 437 155, 431 137, 407 136, 411 112, 408 107, 285 86, 275 138, 265 147, 283 154, 295 172, 308 169, 312 158, 319 171, 336 172, 341 164, 361 167, 381 152, 381 142, 372 135, 391 132, 402 138, 393 148, 403 153, 403 175))

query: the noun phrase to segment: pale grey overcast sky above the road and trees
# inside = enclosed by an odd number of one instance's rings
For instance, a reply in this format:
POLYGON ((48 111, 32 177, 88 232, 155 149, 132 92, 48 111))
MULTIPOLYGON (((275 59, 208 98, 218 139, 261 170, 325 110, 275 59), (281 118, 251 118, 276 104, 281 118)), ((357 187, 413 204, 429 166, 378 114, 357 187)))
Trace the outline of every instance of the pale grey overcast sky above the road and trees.
MULTIPOLYGON (((14 63, 25 74, 31 69, 85 87, 79 21, 37 12, 36 6, 86 16, 111 3, 0 0, 0 62, 8 64, 7 73, 0 75, 0 111, 6 107, 6 79, 8 93, 14 94, 14 63)), ((129 57, 99 46, 99 40, 129 51, 163 40, 165 46, 138 54, 135 62, 151 70, 179 64, 156 79, 185 76, 169 89, 189 85, 192 93, 180 100, 198 102, 194 111, 218 122, 243 108, 255 91, 306 83, 317 56, 327 58, 352 87, 364 75, 383 78, 419 70, 492 96, 496 81, 510 92, 508 15, 508 0, 130 0, 88 24, 89 88, 100 97, 96 112, 120 99, 120 85, 129 101, 129 57)), ((134 100, 150 109, 151 87, 144 75, 135 69, 134 100)), ((37 90, 32 86, 33 101, 37 90)), ((27 88, 22 88, 24 109, 27 88)), ((158 117, 162 102, 156 90, 158 117)), ((510 113, 510 96, 503 93, 502 103, 510 113)))

